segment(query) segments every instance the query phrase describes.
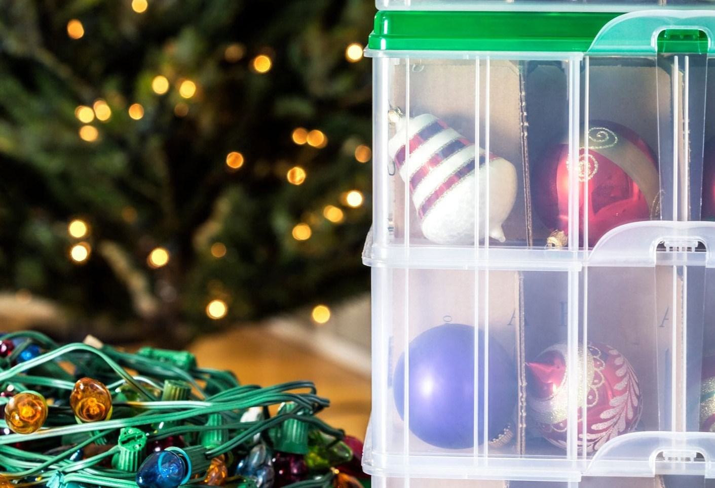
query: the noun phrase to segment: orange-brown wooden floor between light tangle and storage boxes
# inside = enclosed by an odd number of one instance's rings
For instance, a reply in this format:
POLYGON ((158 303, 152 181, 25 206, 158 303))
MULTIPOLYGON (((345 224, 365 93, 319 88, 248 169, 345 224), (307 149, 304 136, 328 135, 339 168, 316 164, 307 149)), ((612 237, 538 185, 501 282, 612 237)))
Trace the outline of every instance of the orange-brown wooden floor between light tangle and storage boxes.
POLYGON ((243 384, 271 384, 310 379, 330 399, 320 417, 333 427, 363 439, 370 415, 370 378, 340 367, 305 347, 266 332, 265 327, 240 327, 204 336, 189 350, 199 365, 231 369, 243 384))

